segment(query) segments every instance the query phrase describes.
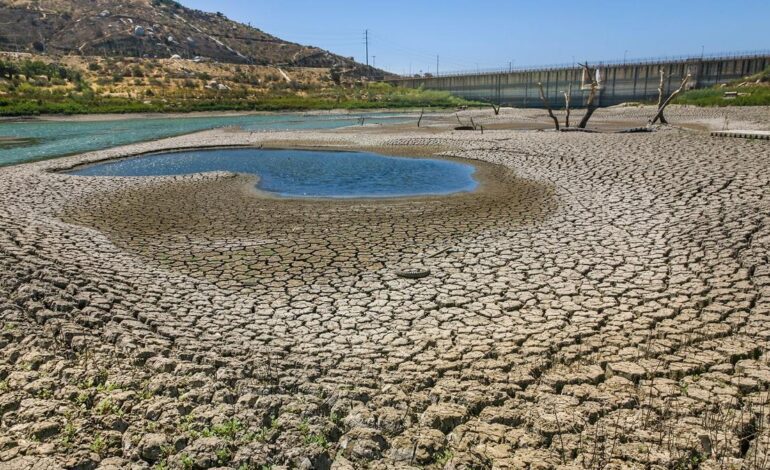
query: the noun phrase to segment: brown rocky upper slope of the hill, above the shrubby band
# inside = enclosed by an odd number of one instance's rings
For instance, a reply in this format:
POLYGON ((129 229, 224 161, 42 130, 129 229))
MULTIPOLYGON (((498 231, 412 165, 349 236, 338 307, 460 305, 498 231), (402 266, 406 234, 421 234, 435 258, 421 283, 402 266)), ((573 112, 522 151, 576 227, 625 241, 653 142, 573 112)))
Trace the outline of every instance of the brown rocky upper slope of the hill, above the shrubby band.
POLYGON ((0 50, 296 67, 364 66, 173 0, 0 0, 0 50))

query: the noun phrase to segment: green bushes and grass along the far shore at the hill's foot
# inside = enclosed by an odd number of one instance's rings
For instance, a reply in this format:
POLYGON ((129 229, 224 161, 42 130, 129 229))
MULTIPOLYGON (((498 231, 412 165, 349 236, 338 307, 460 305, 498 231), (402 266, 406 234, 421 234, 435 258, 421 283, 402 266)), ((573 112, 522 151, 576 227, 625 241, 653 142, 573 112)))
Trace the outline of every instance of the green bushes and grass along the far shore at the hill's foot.
POLYGON ((449 108, 471 105, 447 92, 400 88, 386 83, 337 85, 286 83, 279 78, 265 89, 249 85, 255 79, 240 77, 237 86, 206 86, 210 76, 158 80, 155 66, 133 65, 125 70, 88 64, 107 77, 101 87, 122 84, 122 93, 94 91, 83 75, 57 64, 39 61, 0 61, 0 116, 39 114, 186 113, 194 111, 309 111, 331 109, 449 108), (129 81, 127 85, 125 82, 129 81))

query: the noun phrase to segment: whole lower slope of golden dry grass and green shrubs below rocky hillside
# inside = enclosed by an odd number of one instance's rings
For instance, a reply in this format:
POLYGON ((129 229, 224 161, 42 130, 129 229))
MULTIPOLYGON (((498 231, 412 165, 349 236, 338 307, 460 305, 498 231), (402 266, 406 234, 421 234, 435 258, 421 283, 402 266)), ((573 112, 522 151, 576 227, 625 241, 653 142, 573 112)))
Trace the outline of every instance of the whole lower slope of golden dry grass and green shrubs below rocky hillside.
POLYGON ((449 93, 335 69, 187 60, 0 58, 0 115, 454 107, 449 93))

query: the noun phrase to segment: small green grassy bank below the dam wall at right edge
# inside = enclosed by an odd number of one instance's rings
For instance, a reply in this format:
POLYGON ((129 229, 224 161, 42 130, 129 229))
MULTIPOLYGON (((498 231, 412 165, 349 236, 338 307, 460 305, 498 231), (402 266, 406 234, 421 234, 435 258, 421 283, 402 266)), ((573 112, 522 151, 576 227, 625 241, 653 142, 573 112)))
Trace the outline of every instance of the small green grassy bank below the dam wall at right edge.
POLYGON ((695 106, 770 106, 770 67, 726 87, 688 91, 675 102, 695 106))

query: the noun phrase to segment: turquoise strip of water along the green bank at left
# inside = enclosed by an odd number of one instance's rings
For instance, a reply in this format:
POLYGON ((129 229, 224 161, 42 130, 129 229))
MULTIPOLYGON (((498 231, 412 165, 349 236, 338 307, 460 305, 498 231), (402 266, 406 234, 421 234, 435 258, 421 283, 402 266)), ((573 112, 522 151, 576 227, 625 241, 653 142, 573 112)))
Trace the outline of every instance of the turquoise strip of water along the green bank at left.
POLYGON ((130 118, 106 121, 0 122, 0 138, 23 139, 21 145, 0 146, 0 166, 90 152, 118 145, 162 139, 207 129, 239 126, 247 131, 334 129, 397 122, 399 114, 271 114, 245 116, 130 118))

